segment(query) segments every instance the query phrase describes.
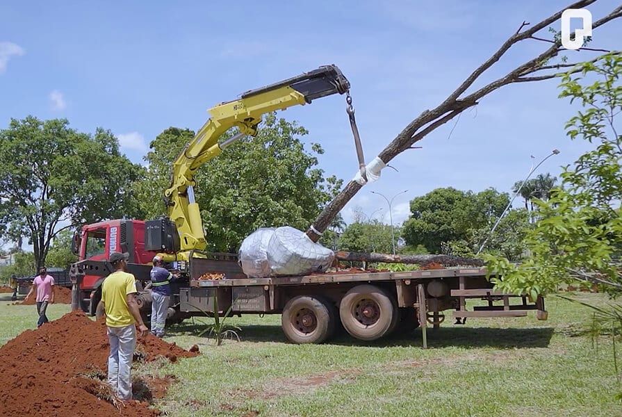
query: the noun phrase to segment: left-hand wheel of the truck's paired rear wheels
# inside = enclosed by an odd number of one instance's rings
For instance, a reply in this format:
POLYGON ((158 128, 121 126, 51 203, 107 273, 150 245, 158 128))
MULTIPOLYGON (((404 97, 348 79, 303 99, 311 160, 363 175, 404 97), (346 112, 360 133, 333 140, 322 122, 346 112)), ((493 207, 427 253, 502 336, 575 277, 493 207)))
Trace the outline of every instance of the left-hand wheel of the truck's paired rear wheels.
POLYGON ((293 343, 322 343, 332 336, 335 322, 336 309, 323 297, 293 297, 281 313, 281 327, 293 343))

